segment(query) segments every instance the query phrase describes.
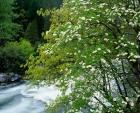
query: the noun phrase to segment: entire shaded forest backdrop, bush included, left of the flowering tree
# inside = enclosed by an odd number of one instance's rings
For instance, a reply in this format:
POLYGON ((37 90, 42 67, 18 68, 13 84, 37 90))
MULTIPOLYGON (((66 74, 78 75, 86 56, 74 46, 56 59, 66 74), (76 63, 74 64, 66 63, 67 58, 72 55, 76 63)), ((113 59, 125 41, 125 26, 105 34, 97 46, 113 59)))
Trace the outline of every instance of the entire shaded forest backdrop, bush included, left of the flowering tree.
POLYGON ((37 14, 40 8, 59 8, 58 0, 0 0, 0 72, 24 74, 30 54, 44 43, 41 35, 50 27, 50 17, 37 14))

